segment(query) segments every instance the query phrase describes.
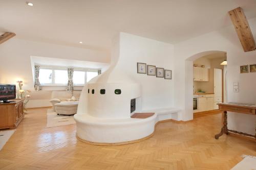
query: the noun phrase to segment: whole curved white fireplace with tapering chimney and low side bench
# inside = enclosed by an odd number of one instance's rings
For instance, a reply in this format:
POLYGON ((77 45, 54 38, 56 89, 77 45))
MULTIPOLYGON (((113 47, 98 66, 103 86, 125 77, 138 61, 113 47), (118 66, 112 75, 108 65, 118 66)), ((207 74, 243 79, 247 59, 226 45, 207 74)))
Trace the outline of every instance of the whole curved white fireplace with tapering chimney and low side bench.
POLYGON ((159 120, 178 119, 177 110, 159 107, 146 111, 155 112, 150 117, 131 118, 131 112, 141 112, 145 98, 141 98, 140 84, 131 76, 134 75, 131 70, 136 72, 136 62, 142 61, 131 59, 125 53, 127 50, 131 50, 130 43, 120 42, 119 36, 116 37, 110 68, 83 87, 74 115, 78 139, 100 145, 131 143, 150 137, 159 120), (125 50, 120 44, 126 46, 125 50), (131 69, 122 71, 124 67, 131 69))

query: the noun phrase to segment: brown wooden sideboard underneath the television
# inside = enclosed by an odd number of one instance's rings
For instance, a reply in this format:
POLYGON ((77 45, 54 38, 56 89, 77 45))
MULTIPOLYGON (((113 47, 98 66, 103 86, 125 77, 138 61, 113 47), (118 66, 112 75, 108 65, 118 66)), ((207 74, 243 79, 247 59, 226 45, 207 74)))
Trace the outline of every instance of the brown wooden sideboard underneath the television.
POLYGON ((16 128, 24 117, 24 99, 0 103, 0 129, 16 128))

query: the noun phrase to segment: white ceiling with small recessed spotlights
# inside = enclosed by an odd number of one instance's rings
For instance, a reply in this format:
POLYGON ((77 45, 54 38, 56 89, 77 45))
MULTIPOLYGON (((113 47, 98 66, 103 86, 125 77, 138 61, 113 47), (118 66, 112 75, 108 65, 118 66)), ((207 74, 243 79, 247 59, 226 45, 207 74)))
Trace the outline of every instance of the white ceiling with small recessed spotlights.
POLYGON ((0 32, 17 38, 108 50, 125 32, 177 43, 230 25, 229 10, 256 17, 255 0, 0 0, 0 32), (78 42, 82 41, 82 44, 78 42))

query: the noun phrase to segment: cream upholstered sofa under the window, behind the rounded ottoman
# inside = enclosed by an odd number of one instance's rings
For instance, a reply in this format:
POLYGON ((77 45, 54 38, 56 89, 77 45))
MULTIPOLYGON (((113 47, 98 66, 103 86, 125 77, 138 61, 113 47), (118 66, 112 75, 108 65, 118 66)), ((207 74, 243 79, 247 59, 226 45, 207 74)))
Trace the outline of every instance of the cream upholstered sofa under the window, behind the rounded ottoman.
MULTIPOLYGON (((81 91, 73 91, 73 96, 76 99, 76 101, 74 101, 75 103, 79 101, 80 94, 81 94, 81 91)), ((52 99, 50 100, 50 102, 52 103, 53 110, 56 111, 55 104, 60 102, 70 101, 71 98, 72 98, 72 93, 70 91, 52 91, 52 99)))

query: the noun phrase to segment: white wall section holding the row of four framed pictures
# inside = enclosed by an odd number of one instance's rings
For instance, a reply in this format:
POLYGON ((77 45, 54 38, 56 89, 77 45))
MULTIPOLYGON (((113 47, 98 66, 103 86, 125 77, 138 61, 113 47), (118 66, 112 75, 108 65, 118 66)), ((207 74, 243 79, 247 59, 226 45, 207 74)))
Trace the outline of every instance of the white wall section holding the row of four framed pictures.
POLYGON ((174 46, 131 34, 120 34, 118 67, 141 84, 142 110, 173 107, 173 80, 137 74, 137 62, 174 69, 174 46))

